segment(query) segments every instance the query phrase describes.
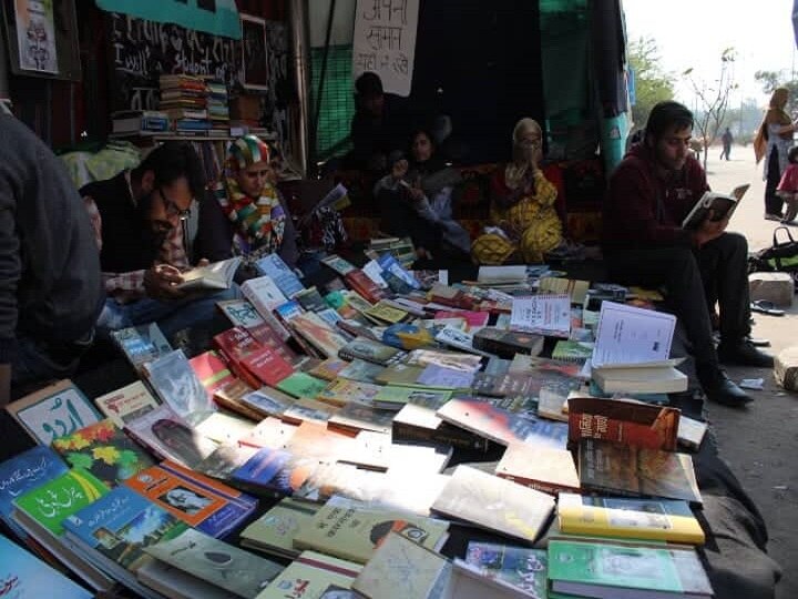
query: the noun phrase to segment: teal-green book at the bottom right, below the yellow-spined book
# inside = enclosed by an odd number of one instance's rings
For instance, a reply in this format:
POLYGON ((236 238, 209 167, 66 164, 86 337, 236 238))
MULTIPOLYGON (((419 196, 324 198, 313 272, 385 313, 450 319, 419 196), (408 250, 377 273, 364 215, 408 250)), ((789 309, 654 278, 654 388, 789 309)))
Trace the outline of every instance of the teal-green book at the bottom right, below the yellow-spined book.
POLYGON ((615 546, 605 542, 549 542, 549 580, 555 592, 580 597, 635 599, 712 597, 695 551, 615 546), (634 595, 630 595, 634 590, 634 595))

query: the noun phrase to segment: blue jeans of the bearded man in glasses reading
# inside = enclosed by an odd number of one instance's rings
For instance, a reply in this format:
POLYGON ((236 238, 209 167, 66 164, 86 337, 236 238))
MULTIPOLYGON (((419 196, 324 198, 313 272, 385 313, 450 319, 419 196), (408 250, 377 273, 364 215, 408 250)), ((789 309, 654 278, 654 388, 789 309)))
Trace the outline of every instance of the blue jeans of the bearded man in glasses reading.
POLYGON ((106 337, 111 331, 157 323, 164 336, 172 339, 178 331, 211 322, 217 314, 216 302, 239 298, 242 294, 237 285, 229 290, 192 295, 176 302, 144 297, 129 304, 120 304, 109 297, 98 318, 98 333, 106 337))

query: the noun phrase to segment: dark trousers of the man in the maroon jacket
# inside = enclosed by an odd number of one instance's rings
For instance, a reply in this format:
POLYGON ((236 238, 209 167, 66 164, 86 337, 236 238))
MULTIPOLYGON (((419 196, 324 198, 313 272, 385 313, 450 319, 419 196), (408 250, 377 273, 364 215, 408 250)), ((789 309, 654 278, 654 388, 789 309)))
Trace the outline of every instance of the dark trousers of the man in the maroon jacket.
POLYGON ((750 333, 748 244, 743 235, 724 233, 700 250, 648 246, 605 251, 612 281, 644 287, 665 286, 667 307, 682 322, 693 345, 699 374, 717 368, 709 306, 720 306, 720 336, 737 343, 750 333))

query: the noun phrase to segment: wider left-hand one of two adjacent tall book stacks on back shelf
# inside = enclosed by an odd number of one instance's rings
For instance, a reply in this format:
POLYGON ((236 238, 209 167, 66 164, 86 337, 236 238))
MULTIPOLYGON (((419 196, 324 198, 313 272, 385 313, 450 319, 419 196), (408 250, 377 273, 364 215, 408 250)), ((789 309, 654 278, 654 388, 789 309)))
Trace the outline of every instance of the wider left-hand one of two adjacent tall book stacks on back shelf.
POLYGON ((205 134, 212 126, 208 119, 208 88, 200 77, 165 74, 158 78, 158 110, 180 134, 205 134))

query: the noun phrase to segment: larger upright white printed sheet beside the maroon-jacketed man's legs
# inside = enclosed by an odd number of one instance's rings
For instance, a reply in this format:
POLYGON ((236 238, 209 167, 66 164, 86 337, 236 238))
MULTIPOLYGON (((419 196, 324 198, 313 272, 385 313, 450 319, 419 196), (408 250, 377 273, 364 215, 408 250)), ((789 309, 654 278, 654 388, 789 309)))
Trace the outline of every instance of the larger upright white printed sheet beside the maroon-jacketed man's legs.
POLYGON ((594 367, 666 362, 675 328, 673 314, 602 302, 591 362, 594 367))

